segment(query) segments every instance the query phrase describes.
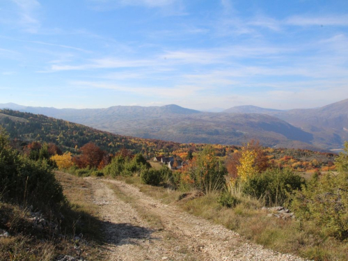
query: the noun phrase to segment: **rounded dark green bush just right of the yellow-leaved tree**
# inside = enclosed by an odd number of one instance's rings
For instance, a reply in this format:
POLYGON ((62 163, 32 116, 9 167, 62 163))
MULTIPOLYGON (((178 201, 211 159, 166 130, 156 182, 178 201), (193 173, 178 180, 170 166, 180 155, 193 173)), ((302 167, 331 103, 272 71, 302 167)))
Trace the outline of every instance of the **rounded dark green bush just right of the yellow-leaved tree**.
POLYGON ((300 190, 303 177, 289 169, 269 169, 252 175, 242 186, 243 193, 263 198, 266 205, 283 205, 292 191, 300 190))

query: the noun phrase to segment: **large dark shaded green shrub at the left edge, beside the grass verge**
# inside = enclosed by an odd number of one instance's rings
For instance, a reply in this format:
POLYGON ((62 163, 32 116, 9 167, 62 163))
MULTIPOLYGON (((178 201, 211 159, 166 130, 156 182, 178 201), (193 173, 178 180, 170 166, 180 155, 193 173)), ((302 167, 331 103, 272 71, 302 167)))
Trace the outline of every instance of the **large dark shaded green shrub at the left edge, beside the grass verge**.
POLYGON ((63 203, 63 189, 47 161, 22 157, 0 128, 0 191, 6 200, 33 205, 63 203))

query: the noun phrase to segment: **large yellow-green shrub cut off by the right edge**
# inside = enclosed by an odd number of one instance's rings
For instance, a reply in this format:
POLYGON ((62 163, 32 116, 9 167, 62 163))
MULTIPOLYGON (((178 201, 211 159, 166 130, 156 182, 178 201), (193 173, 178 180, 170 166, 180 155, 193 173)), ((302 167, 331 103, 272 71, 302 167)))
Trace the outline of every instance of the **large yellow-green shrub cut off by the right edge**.
POLYGON ((324 237, 348 239, 348 143, 335 161, 338 175, 317 173, 291 204, 296 216, 314 223, 324 237))

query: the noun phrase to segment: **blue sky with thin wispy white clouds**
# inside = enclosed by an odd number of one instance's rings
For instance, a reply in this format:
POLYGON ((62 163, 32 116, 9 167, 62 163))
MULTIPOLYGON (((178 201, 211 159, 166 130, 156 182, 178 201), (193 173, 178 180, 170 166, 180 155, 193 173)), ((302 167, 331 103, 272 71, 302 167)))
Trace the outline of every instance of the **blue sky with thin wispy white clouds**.
POLYGON ((0 0, 0 103, 295 109, 347 98, 347 0, 0 0))

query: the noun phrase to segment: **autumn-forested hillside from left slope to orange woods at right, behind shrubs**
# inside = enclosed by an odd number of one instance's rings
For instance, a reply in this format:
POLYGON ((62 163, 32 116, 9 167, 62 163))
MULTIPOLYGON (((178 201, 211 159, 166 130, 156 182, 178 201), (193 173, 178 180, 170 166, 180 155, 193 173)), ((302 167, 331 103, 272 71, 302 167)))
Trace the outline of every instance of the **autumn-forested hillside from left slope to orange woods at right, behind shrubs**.
MULTIPOLYGON (((57 120, 33 113, 11 110, 0 110, 0 125, 10 138, 17 141, 18 147, 29 143, 54 143, 65 151, 79 154, 79 149, 93 142, 107 153, 115 154, 125 148, 133 154, 141 153, 147 159, 159 155, 174 155, 188 159, 189 155, 205 148, 204 143, 174 143, 154 139, 140 139, 130 136, 120 136, 109 132, 75 124, 65 120, 57 120)), ((216 155, 228 161, 240 150, 237 145, 212 145, 216 155)), ((290 167, 295 171, 329 171, 334 168, 335 155, 327 152, 289 148, 264 148, 264 153, 275 166, 290 167)))

